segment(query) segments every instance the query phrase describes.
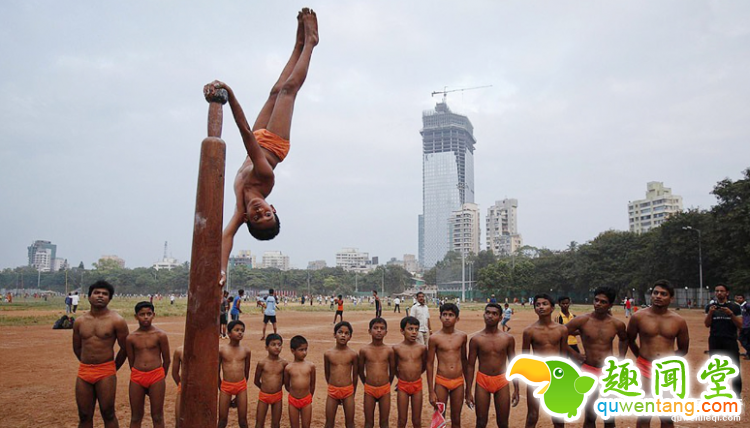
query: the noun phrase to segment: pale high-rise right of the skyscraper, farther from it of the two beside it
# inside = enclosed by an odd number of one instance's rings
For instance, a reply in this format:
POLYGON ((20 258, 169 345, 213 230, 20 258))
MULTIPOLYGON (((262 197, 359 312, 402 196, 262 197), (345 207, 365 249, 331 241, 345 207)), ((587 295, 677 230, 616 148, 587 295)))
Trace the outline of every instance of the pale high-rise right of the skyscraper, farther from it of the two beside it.
POLYGON ((497 256, 515 253, 523 245, 518 233, 518 199, 503 199, 487 208, 487 251, 497 256))

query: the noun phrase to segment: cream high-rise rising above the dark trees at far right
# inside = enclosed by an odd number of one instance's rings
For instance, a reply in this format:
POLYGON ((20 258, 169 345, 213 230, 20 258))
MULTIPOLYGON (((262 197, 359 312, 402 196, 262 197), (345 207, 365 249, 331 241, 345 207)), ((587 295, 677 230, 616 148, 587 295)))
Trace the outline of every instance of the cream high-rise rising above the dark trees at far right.
POLYGON ((661 225, 672 214, 682 211, 682 196, 673 195, 664 183, 651 181, 646 184, 646 199, 628 202, 630 231, 648 232, 661 225))

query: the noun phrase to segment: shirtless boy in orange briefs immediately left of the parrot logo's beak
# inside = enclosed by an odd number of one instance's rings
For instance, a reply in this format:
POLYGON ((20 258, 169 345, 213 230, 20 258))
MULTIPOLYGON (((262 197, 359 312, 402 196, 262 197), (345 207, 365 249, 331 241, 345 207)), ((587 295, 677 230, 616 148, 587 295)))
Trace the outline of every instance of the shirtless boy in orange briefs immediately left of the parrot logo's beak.
MULTIPOLYGON (((516 356, 516 340, 509 333, 501 332, 500 323, 502 308, 497 303, 489 303, 484 308, 484 330, 469 341, 469 361, 466 370, 466 404, 474 407, 476 399, 477 428, 487 426, 490 401, 495 404, 497 426, 508 427, 511 394, 505 371, 508 361, 516 356), (474 382, 474 368, 479 359, 477 387, 475 395, 471 393, 474 382)), ((513 407, 518 405, 518 380, 513 381, 513 407)))

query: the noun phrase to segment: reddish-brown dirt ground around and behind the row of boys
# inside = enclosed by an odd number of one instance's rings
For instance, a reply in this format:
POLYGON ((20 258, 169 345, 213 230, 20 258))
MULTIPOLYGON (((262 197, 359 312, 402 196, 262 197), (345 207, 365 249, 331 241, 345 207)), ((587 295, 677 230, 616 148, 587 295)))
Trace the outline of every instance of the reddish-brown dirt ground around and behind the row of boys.
MULTIPOLYGON (((386 337, 387 344, 395 344, 403 338, 398 330, 398 321, 404 314, 393 314, 388 307, 384 308, 384 315, 389 322, 389 334, 386 337)), ((573 309, 576 313, 582 313, 588 310, 588 307, 577 307, 573 309)), ((24 315, 33 315, 34 311, 27 311, 24 315)), ((439 326, 436 311, 431 309, 431 320, 433 327, 439 326)), ((354 327, 354 337, 350 346, 357 350, 365 343, 369 342, 367 334, 367 323, 372 318, 373 312, 345 312, 345 320, 352 323, 354 327)), ((690 352, 688 360, 691 364, 691 372, 695 373, 695 368, 705 361, 703 351, 707 349, 707 329, 703 326, 703 313, 700 310, 682 310, 680 314, 688 321, 691 333, 690 352)), ((20 314, 19 314, 20 315, 20 314)), ((615 315, 624 319, 622 309, 617 308, 615 315)), ((314 397, 313 426, 322 427, 325 422, 324 406, 326 400, 326 383, 323 373, 323 352, 333 346, 333 312, 294 312, 283 308, 279 313, 279 333, 285 338, 285 347, 282 357, 287 360, 292 359, 291 352, 288 348, 288 340, 296 334, 301 334, 307 338, 310 343, 310 353, 308 360, 315 363, 318 367, 317 391, 314 397)), ((137 328, 137 323, 132 317, 128 319, 129 327, 132 330, 137 328)), ((517 351, 521 348, 521 333, 525 326, 536 319, 534 313, 528 308, 517 311, 509 325, 511 333, 516 339, 517 351)), ((252 313, 244 314, 242 320, 248 326, 246 333, 245 345, 252 350, 252 371, 251 378, 254 375, 256 362, 265 356, 266 351, 264 342, 260 341, 260 329, 262 327, 262 315, 258 310, 252 313)), ((185 322, 184 318, 170 317, 158 318, 155 325, 165 330, 170 338, 172 349, 182 344, 184 338, 185 322)), ((464 311, 458 323, 458 328, 473 335, 483 328, 481 311, 464 311)), ((270 325, 269 325, 270 328, 270 325)), ((71 330, 52 330, 51 326, 32 326, 32 327, 0 327, 0 426, 2 427, 76 427, 77 415, 73 387, 75 384, 78 361, 73 354, 71 345, 71 330)), ((223 342, 223 341, 222 341, 223 342)), ((630 354, 628 354, 630 355, 630 354)), ((118 373, 117 385, 117 416, 121 426, 127 426, 130 422, 130 408, 128 404, 128 379, 130 376, 128 365, 122 367, 118 373)), ((743 379, 750 379, 750 362, 742 362, 743 379)), ((174 409, 176 386, 168 378, 167 399, 166 399, 166 421, 167 426, 174 426, 174 409)), ((701 385, 693 381, 692 396, 698 396, 701 385)), ((750 380, 744 384, 743 396, 747 396, 750 380)), ((518 407, 513 408, 510 414, 510 426, 523 426, 526 417, 526 387, 521 384, 521 401, 518 407)), ((257 388, 250 387, 250 403, 248 419, 254 425, 255 406, 257 403, 257 388)), ((357 409, 356 409, 356 426, 361 427, 364 424, 362 410, 363 389, 360 386, 357 390, 357 409)), ((286 396, 286 393, 284 394, 286 396)), ((390 416, 390 426, 396 426, 396 406, 395 394, 392 394, 392 411, 390 416)), ((286 398, 284 400, 286 403, 286 398)), ((425 408, 423 410, 423 425, 427 426, 431 417, 431 409, 425 397, 425 408)), ((232 409, 232 412, 234 409, 232 409)), ((237 426, 236 413, 230 412, 229 426, 237 426)), ((146 411, 148 415, 148 407, 146 411)), ((377 418, 377 416, 376 416, 377 418)), ((464 407, 462 412, 462 425, 474 426, 475 418, 473 413, 464 407)), ((750 416, 745 411, 743 421, 739 424, 724 423, 725 426, 750 426, 750 416)), ((377 421, 377 419, 376 419, 377 421)), ((490 426, 494 425, 494 410, 490 410, 490 426)), ((343 411, 339 409, 337 423, 343 426, 343 411)), ((270 425, 267 422, 268 425, 270 425)), ((717 422, 679 422, 676 426, 716 426, 721 423, 717 422)), ((581 426, 581 421, 572 424, 581 426)), ((601 426, 601 421, 598 424, 601 426)), ((625 419, 618 420, 618 427, 635 426, 635 420, 625 419)), ((653 426, 657 426, 656 421, 652 421, 653 426)), ((95 426, 102 426, 101 418, 97 411, 95 426)), ((144 420, 144 427, 151 427, 150 418, 147 416, 144 420)), ((282 426, 289 427, 286 404, 284 416, 282 417, 282 426)), ((550 419, 545 414, 540 416, 539 427, 552 426, 550 419)))

